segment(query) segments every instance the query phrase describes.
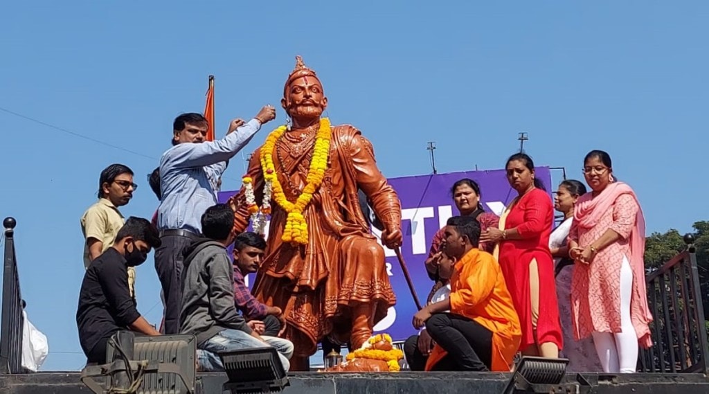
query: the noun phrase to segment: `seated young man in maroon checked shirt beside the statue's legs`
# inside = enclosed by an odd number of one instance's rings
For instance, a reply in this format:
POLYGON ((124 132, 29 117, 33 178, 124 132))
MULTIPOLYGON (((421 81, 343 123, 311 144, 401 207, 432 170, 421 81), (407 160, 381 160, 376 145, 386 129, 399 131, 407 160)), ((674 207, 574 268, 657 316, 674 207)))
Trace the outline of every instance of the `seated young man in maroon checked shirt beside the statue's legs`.
POLYGON ((234 242, 234 300, 244 318, 261 320, 264 335, 277 337, 281 331, 283 315, 281 308, 260 303, 246 286, 244 276, 253 274, 261 265, 266 249, 266 240, 255 232, 242 232, 234 242))

